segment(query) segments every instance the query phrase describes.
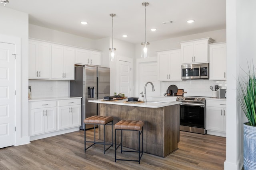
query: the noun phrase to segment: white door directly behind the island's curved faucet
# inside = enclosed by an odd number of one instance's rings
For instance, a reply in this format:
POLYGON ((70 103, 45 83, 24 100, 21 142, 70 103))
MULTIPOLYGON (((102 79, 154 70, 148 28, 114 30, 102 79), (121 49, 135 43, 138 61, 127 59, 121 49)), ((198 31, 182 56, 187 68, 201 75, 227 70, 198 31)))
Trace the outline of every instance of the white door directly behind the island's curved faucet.
MULTIPOLYGON (((144 87, 146 82, 152 82, 155 88, 155 91, 152 92, 151 84, 147 85, 146 94, 147 100, 150 99, 150 96, 159 96, 160 94, 160 82, 157 78, 157 61, 145 62, 139 64, 139 92, 144 93, 144 87)), ((140 95, 141 98, 141 95, 140 95)), ((151 99, 150 99, 151 100, 151 99)))

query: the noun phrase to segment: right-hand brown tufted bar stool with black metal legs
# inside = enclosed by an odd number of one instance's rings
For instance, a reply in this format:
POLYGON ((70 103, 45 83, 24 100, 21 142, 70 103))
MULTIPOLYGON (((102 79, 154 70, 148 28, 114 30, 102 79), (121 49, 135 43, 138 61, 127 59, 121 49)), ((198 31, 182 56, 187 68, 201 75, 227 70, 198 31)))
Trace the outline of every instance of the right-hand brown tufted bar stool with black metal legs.
POLYGON ((140 159, 143 155, 143 125, 144 121, 132 121, 132 120, 121 120, 118 123, 115 124, 115 162, 116 160, 126 160, 126 161, 136 161, 140 164, 140 159), (121 153, 122 152, 138 152, 139 157, 138 160, 130 160, 130 159, 117 159, 116 158, 116 150, 118 147, 116 147, 116 131, 121 131, 121 143, 118 145, 120 147, 121 145, 121 153), (123 131, 137 131, 138 132, 138 147, 139 149, 136 151, 130 151, 130 150, 123 150, 122 148, 122 133, 123 131), (140 135, 142 134, 142 151, 140 151, 140 135))

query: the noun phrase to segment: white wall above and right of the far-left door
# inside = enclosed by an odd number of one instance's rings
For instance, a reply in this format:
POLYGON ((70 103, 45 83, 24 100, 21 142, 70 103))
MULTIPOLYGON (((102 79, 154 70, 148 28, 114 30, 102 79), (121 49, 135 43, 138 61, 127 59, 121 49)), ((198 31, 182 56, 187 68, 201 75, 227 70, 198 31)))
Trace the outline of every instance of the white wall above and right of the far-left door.
POLYGON ((21 39, 21 87, 16 87, 16 91, 21 93, 21 115, 17 124, 20 124, 16 131, 16 145, 29 143, 28 137, 28 14, 18 12, 7 7, 0 6, 1 26, 0 33, 21 39), (17 134, 18 133, 18 134, 17 134))

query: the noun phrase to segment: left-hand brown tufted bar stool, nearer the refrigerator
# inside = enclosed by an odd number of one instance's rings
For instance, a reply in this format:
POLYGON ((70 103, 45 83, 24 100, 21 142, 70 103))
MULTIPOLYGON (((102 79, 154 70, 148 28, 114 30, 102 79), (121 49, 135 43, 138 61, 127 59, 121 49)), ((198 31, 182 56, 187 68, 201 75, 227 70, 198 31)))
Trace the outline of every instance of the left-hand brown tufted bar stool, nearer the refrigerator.
POLYGON ((95 115, 95 116, 91 116, 84 119, 84 152, 86 152, 86 150, 92 146, 90 145, 89 147, 86 148, 86 142, 93 143, 92 145, 95 145, 95 144, 104 145, 104 154, 106 150, 108 150, 110 147, 113 147, 113 117, 95 115), (86 125, 94 125, 94 141, 86 141, 86 125), (95 125, 104 125, 104 141, 103 142, 95 141, 95 125), (106 125, 112 125, 112 143, 106 142, 106 139, 105 139, 106 125), (106 149, 106 145, 110 145, 110 146, 106 149))

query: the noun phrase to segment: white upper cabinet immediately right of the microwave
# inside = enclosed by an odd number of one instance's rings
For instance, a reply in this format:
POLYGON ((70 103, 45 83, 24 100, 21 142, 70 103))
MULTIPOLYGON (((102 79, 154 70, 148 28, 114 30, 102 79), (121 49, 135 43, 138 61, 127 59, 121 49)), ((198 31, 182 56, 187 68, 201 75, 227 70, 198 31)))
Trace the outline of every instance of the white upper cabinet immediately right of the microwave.
POLYGON ((209 45, 209 80, 226 80, 226 43, 209 45))

